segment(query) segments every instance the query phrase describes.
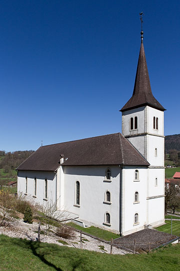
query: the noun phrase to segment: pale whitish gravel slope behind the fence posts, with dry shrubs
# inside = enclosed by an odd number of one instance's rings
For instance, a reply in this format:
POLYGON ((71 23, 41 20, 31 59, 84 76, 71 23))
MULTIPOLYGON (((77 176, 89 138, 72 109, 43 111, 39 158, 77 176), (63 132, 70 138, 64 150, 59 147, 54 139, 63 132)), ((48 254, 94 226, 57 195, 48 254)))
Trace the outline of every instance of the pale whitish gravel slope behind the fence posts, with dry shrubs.
MULTIPOLYGON (((32 224, 24 223, 22 219, 15 219, 7 227, 0 227, 0 234, 7 235, 9 237, 17 237, 22 239, 27 239, 31 241, 36 241, 37 238, 37 229, 38 223, 33 222, 32 224), (35 232, 36 231, 36 232, 35 232)), ((41 230, 45 230, 44 226, 41 226, 41 230)), ((55 231, 55 228, 53 229, 55 231)), ((65 241, 68 247, 80 248, 80 236, 79 232, 75 232, 75 236, 72 239, 64 239, 57 237, 54 232, 50 232, 48 235, 40 234, 40 241, 46 243, 54 243, 57 245, 63 245, 58 242, 59 240, 65 241)), ((109 253, 110 245, 104 242, 101 242, 97 239, 94 239, 90 236, 82 234, 82 248, 92 251, 97 251, 101 253, 109 253)), ((112 254, 127 254, 127 251, 124 251, 120 248, 112 248, 112 254)))

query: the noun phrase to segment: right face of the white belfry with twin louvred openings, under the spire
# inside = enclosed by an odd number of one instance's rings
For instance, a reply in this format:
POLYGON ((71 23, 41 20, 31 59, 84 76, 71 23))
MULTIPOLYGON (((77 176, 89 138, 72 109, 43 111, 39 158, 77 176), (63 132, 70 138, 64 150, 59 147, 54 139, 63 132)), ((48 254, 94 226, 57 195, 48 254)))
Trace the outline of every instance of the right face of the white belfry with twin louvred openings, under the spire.
POLYGON ((164 135, 163 111, 147 106, 147 132, 164 135), (153 129, 153 117, 158 117, 158 129, 153 129))

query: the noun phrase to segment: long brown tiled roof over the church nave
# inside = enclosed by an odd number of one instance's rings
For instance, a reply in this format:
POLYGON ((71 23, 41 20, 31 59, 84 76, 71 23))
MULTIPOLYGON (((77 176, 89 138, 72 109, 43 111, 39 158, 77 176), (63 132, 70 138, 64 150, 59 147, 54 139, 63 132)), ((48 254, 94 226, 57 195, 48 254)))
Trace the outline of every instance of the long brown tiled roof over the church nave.
POLYGON ((40 147, 17 170, 55 171, 60 154, 64 154, 63 166, 149 165, 121 133, 112 133, 40 147))

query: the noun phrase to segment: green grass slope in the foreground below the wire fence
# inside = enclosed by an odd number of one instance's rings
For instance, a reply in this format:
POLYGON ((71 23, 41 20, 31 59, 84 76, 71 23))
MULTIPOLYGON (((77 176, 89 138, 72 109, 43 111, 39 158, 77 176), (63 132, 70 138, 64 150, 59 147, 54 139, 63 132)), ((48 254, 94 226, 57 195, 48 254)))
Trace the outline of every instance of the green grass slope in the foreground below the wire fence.
POLYGON ((0 235, 0 270, 5 271, 174 271, 180 245, 148 254, 109 255, 0 235))

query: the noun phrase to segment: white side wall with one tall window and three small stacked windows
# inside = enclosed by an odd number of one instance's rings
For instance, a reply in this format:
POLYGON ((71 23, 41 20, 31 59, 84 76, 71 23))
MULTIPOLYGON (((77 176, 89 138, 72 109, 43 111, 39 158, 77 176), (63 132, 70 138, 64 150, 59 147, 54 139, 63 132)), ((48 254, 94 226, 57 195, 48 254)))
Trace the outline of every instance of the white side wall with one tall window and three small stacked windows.
MULTIPOLYGON (((79 219, 119 231, 120 168, 118 166, 64 167, 64 208, 79 215, 79 219), (105 171, 111 170, 111 182, 104 181, 105 171), (80 207, 75 205, 75 182, 80 183, 80 207), (109 190, 111 204, 105 204, 109 190), (106 226, 104 213, 109 212, 111 226, 106 226)), ((61 191, 62 193, 62 191, 61 191)))

